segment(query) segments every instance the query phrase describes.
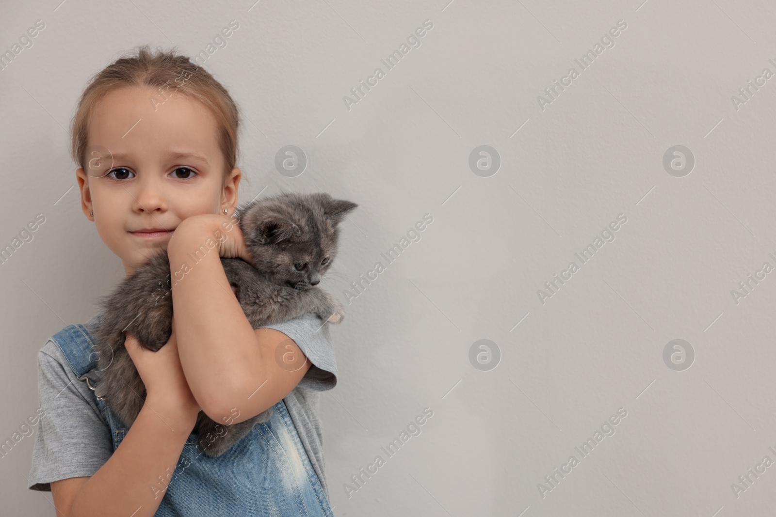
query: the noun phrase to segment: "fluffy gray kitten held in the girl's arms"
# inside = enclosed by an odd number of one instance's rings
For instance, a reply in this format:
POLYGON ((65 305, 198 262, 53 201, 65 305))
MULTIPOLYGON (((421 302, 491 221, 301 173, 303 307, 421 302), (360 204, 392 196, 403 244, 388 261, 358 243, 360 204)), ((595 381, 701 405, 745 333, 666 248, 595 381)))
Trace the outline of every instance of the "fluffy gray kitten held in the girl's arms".
MULTIPOLYGON (((338 223, 357 206, 325 193, 283 192, 238 209, 239 226, 256 267, 239 258, 222 257, 221 264, 254 329, 307 312, 314 312, 322 322, 342 321, 342 305, 315 286, 337 255, 338 223)), ((101 380, 95 395, 105 399, 126 426, 137 418, 146 390, 126 352, 124 332, 132 333, 148 350, 159 350, 168 342, 172 333, 169 286, 170 264, 167 251, 161 250, 111 295, 101 298, 104 310, 95 335, 101 380)), ((219 457, 270 417, 272 408, 227 426, 200 411, 192 432, 200 437, 202 453, 219 457)))

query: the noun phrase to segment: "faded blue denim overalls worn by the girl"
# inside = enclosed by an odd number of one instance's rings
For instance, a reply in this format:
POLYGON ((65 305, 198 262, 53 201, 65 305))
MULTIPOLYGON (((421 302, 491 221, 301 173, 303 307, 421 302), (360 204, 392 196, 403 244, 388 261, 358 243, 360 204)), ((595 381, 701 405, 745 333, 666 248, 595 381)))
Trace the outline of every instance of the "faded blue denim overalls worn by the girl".
MULTIPOLYGON (((99 371, 94 370, 97 352, 88 329, 68 325, 51 339, 75 375, 94 390, 99 371)), ((127 428, 97 395, 95 402, 108 422, 115 451, 127 428)), ((162 497, 156 517, 333 515, 285 402, 275 404, 272 419, 257 424, 220 457, 200 453, 198 439, 189 435, 175 470, 149 488, 162 497)))

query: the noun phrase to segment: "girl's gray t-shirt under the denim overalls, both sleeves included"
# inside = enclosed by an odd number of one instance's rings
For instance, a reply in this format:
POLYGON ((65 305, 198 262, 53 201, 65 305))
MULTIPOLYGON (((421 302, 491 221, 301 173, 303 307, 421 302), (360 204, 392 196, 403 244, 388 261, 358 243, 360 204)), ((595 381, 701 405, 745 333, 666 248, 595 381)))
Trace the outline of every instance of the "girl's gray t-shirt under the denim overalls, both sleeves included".
MULTIPOLYGON (((92 335, 99 314, 84 323, 92 335)), ((286 402, 300 440, 320 479, 326 497, 323 433, 318 418, 319 393, 337 385, 337 364, 329 323, 312 313, 265 326, 289 336, 312 364, 286 402), (320 330, 319 330, 320 327, 320 330)), ((38 352, 38 396, 45 416, 38 422, 29 471, 30 490, 50 491, 50 482, 95 474, 113 454, 110 428, 94 400, 94 392, 79 381, 61 350, 49 340, 38 352)))

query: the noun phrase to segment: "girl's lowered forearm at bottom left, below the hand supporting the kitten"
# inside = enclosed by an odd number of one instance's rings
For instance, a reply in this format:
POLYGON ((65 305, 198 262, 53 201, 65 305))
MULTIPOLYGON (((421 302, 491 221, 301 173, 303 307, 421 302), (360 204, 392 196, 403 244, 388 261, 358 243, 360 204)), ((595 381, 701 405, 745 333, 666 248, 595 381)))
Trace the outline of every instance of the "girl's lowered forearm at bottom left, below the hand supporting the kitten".
POLYGON ((75 494, 71 517, 152 517, 165 495, 196 415, 173 416, 147 399, 116 451, 75 494))

